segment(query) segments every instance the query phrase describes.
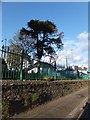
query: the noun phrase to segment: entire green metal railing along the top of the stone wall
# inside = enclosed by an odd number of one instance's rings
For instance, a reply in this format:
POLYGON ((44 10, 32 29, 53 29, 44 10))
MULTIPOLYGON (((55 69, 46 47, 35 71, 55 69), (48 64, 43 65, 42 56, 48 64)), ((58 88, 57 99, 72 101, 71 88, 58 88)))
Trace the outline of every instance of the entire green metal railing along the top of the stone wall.
MULTIPOLYGON (((9 48, 5 49, 2 47, 2 50, 0 50, 0 59, 2 60, 2 79, 4 80, 82 79, 78 76, 70 76, 65 71, 61 71, 60 75, 58 75, 56 69, 53 69, 54 75, 53 73, 48 73, 48 68, 46 72, 30 72, 30 59, 24 53, 24 50, 18 53, 13 49, 10 50, 9 48)), ((84 75, 83 77, 87 79, 88 76, 84 75)))

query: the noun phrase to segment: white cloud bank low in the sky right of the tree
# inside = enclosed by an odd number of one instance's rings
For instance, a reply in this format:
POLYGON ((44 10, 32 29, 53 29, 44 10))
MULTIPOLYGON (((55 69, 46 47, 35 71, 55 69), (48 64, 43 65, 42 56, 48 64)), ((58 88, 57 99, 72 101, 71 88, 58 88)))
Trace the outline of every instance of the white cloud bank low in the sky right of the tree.
POLYGON ((76 64, 79 66, 88 66, 88 33, 80 33, 76 36, 76 40, 67 40, 64 43, 64 51, 57 54, 60 55, 62 53, 62 57, 59 56, 57 59, 57 64, 65 65, 67 56, 68 65, 76 64))

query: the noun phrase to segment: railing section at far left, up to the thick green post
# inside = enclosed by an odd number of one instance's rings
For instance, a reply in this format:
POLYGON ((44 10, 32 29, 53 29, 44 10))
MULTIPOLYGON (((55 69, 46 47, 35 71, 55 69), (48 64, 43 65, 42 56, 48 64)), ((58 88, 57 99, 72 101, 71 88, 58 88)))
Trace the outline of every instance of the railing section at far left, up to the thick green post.
POLYGON ((20 58, 21 54, 15 53, 14 50, 0 50, 2 79, 20 79, 20 58))

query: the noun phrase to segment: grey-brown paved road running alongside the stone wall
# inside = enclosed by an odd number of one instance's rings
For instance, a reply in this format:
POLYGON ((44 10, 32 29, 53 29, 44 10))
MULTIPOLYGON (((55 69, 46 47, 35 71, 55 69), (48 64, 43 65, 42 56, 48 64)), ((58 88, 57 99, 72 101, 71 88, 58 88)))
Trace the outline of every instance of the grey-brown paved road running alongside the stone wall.
POLYGON ((55 99, 13 118, 75 118, 87 101, 88 88, 55 99))

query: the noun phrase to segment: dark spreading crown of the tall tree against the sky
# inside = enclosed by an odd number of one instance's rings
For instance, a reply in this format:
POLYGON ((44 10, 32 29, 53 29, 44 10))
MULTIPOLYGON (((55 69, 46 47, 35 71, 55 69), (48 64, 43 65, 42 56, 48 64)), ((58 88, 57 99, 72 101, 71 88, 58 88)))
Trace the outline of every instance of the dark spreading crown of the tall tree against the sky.
POLYGON ((42 56, 52 57, 57 49, 62 48, 62 37, 63 32, 58 34, 56 25, 51 21, 30 20, 27 28, 20 30, 17 41, 33 59, 40 61, 42 56))

